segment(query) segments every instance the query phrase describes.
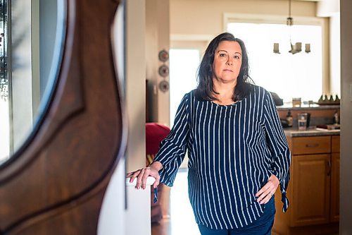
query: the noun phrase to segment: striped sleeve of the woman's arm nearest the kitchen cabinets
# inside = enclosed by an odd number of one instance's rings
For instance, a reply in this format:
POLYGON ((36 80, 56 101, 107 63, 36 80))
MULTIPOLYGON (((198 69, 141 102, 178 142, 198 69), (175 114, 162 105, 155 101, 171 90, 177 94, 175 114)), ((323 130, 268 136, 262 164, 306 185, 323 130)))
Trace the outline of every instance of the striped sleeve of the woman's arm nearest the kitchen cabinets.
POLYGON ((289 207, 289 200, 287 199, 287 186, 289 184, 289 166, 291 164, 291 152, 287 144, 284 129, 279 120, 275 103, 269 92, 265 94, 264 101, 264 117, 265 117, 265 131, 267 145, 272 155, 272 164, 270 172, 277 176, 280 182, 280 191, 282 193, 282 211, 286 212, 289 207))

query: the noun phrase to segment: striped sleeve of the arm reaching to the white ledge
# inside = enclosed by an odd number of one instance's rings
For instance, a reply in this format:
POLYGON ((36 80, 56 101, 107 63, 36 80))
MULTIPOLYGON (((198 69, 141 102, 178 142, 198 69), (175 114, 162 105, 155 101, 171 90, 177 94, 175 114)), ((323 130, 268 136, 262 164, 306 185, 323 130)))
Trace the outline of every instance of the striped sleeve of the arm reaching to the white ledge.
POLYGON ((177 171, 182 164, 187 150, 189 136, 189 93, 184 95, 177 109, 175 122, 169 135, 161 141, 158 153, 153 162, 161 162, 159 171, 161 182, 172 187, 177 171))

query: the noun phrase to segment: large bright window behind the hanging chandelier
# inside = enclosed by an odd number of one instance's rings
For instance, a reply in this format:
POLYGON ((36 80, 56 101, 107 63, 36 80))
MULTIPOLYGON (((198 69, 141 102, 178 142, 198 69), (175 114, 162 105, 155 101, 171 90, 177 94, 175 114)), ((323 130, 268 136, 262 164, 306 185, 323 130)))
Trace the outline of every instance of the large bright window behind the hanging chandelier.
POLYGON ((227 31, 244 40, 254 83, 277 93, 284 102, 293 97, 318 101, 322 95, 322 26, 300 24, 289 29, 284 23, 242 22, 227 23, 227 31), (293 44, 302 42, 302 52, 289 53, 290 35, 293 44), (280 54, 273 53, 274 43, 279 43, 280 54), (310 53, 305 52, 306 43, 310 53))

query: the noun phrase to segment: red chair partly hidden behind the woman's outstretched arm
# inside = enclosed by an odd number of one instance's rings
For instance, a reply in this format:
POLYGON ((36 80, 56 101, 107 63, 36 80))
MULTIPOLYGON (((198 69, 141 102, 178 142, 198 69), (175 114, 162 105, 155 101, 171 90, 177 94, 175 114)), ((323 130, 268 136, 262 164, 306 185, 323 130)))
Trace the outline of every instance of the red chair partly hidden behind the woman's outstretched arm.
MULTIPOLYGON (((158 123, 146 123, 146 166, 149 166, 159 150, 161 140, 170 133, 170 128, 158 123)), ((151 222, 159 222, 163 217, 161 198, 163 188, 166 186, 160 183, 158 186, 158 202, 153 202, 153 186, 151 186, 151 222)))

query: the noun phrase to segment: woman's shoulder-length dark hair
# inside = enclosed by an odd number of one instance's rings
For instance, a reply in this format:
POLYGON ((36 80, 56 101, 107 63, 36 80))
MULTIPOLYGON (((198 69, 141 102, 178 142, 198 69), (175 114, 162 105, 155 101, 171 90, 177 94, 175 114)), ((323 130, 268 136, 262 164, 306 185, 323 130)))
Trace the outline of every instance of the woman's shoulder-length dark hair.
POLYGON ((241 69, 237 78, 236 88, 234 89, 234 93, 232 95, 232 100, 237 102, 242 100, 249 94, 249 92, 251 92, 252 85, 250 82, 253 81, 251 80, 251 77, 249 77, 248 55, 244 42, 239 38, 234 37, 234 35, 230 32, 223 32, 222 34, 216 36, 213 40, 211 40, 206 48, 206 53, 201 59, 201 64, 199 65, 197 71, 198 85, 195 95, 201 100, 218 100, 215 97, 215 94, 218 94, 218 92, 216 92, 213 87, 213 61, 215 50, 222 41, 238 42, 242 51, 241 69))

